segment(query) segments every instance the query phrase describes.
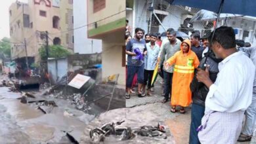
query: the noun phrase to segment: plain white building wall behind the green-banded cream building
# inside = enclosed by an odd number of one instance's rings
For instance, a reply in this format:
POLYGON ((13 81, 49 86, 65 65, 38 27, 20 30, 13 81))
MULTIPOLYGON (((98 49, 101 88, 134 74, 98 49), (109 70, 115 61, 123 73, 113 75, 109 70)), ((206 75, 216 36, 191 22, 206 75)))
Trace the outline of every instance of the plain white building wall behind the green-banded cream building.
POLYGON ((102 51, 102 41, 88 39, 87 0, 75 0, 74 4, 74 53, 94 54, 102 51))

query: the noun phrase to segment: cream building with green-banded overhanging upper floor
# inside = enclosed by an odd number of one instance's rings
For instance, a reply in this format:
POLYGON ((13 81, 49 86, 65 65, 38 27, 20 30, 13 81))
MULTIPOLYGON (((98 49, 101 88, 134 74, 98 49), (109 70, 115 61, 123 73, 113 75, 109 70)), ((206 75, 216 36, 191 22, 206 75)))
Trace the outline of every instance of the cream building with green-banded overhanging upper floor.
POLYGON ((88 0, 88 30, 91 39, 102 40, 102 77, 119 74, 125 85, 125 0, 88 0))

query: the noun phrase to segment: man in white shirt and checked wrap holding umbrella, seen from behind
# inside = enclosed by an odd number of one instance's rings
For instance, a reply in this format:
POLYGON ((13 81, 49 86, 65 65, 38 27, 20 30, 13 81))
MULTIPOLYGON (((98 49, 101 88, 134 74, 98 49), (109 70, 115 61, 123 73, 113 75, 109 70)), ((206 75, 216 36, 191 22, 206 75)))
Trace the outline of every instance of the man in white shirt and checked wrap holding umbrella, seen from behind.
POLYGON ((223 61, 219 63, 219 74, 214 83, 209 79, 207 69, 198 69, 196 75, 198 81, 209 88, 198 137, 201 143, 236 143, 244 112, 252 100, 255 66, 236 50, 232 27, 217 28, 210 47, 223 61))

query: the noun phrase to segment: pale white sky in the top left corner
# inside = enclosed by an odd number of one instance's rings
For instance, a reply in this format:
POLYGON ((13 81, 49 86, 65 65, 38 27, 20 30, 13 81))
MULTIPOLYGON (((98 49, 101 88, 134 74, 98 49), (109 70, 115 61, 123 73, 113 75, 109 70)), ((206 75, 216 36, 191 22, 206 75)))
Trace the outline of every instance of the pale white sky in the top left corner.
MULTIPOLYGON (((16 0, 1 0, 0 5, 0 39, 3 37, 10 37, 10 28, 9 28, 9 7, 16 0)), ((21 2, 28 2, 28 0, 19 0, 21 2)))

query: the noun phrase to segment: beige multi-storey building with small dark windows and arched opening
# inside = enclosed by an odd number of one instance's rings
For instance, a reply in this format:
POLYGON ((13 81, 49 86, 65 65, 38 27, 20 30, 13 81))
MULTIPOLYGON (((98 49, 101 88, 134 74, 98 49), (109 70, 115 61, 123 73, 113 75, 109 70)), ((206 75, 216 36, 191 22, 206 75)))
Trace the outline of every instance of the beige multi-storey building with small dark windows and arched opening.
POLYGON ((29 64, 40 62, 39 48, 45 45, 45 31, 49 33, 49 45, 63 45, 73 51, 72 31, 68 35, 62 32, 73 27, 72 1, 16 1, 9 8, 9 17, 12 60, 23 61, 28 56, 29 64))

